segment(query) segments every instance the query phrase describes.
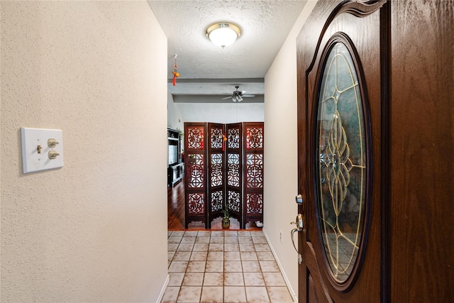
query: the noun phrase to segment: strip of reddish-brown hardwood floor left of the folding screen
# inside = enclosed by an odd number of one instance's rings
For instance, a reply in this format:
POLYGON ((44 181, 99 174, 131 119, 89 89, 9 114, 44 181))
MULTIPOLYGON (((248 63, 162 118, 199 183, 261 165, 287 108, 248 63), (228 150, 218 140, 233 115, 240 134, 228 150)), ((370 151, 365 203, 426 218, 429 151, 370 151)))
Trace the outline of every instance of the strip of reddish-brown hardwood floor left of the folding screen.
POLYGON ((184 230, 184 178, 167 187, 167 229, 184 230))

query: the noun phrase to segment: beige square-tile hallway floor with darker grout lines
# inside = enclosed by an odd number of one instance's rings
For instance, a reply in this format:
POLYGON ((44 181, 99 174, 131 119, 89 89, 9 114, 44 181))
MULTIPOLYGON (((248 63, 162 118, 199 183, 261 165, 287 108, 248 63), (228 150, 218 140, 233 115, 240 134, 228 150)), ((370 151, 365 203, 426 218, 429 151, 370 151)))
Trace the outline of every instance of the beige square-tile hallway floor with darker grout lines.
POLYGON ((164 302, 293 302, 262 231, 169 231, 164 302))

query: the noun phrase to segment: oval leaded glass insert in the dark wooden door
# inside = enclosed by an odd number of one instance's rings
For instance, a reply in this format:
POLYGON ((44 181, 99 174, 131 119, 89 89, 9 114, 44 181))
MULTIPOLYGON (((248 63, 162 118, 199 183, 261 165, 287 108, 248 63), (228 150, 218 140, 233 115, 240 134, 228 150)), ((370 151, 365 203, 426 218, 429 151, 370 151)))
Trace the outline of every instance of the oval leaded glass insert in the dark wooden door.
POLYGON ((348 48, 331 45, 318 106, 316 162, 321 237, 336 282, 358 259, 365 216, 366 145, 358 74, 348 48))

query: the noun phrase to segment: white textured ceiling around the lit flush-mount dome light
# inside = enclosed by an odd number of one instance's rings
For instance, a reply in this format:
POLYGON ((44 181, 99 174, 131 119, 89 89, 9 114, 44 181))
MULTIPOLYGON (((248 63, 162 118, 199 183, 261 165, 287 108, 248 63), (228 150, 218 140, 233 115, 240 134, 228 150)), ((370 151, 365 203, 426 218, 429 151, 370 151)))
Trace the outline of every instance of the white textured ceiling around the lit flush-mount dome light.
MULTIPOLYGON (((247 94, 258 97, 264 94, 265 73, 306 1, 148 1, 148 4, 167 35, 169 79, 177 55, 179 78, 175 87, 169 84, 169 92, 179 96, 175 101, 188 101, 186 96, 195 101, 194 95, 207 95, 218 101, 222 94, 233 92, 235 85, 240 85, 240 90, 247 94), (241 28, 236 43, 224 49, 212 44, 205 35, 206 27, 220 21, 236 23, 241 28)), ((259 99, 256 101, 263 101, 263 97, 259 99)))

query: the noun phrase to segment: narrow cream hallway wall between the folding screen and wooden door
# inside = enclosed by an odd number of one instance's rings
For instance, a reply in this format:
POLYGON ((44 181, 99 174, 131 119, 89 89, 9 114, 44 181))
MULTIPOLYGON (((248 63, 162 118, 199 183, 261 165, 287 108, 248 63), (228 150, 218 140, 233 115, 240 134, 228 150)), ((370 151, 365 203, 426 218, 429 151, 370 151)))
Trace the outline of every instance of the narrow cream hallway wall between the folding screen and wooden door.
POLYGON ((290 222, 298 210, 296 38, 315 4, 311 0, 304 6, 265 76, 264 231, 294 293, 298 292, 298 257, 290 222))

